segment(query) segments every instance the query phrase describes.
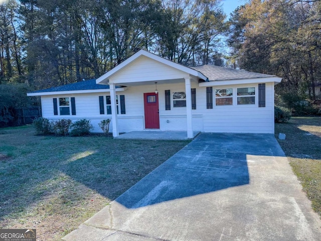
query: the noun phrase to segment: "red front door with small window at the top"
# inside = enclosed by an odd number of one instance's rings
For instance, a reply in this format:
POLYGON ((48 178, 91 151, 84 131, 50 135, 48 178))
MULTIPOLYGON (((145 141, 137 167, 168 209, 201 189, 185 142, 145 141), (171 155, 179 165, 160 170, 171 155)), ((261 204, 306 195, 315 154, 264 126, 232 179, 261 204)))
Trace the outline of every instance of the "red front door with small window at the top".
POLYGON ((144 93, 145 128, 159 129, 158 94, 144 93))

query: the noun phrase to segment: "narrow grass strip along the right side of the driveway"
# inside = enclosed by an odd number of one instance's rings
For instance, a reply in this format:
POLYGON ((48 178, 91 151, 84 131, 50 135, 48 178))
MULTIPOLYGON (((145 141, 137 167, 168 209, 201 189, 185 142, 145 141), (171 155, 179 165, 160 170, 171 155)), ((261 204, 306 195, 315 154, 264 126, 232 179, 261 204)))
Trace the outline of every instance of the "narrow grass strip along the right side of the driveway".
POLYGON ((286 134, 286 140, 278 142, 313 210, 321 216, 321 118, 293 117, 275 125, 276 137, 279 133, 286 134))

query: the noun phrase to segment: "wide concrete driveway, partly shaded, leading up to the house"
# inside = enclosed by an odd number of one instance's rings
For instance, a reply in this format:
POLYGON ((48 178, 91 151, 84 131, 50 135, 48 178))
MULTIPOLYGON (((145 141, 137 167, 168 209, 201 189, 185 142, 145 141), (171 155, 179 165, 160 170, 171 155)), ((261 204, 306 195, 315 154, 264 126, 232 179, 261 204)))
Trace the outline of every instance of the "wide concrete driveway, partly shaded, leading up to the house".
POLYGON ((273 135, 202 133, 63 239, 316 241, 320 229, 273 135))

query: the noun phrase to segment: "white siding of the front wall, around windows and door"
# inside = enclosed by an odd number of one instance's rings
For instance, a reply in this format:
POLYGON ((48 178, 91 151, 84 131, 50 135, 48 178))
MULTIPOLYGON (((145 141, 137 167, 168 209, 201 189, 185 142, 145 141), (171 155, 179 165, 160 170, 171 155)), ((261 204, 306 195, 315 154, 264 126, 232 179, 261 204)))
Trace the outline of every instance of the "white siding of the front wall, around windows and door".
MULTIPOLYGON (((150 61, 149 61, 150 62, 150 61)), ((130 67, 130 66, 129 66, 130 67)), ((274 84, 266 83, 266 107, 258 107, 258 83, 249 85, 220 86, 220 88, 234 88, 234 104, 231 106, 215 106, 215 87, 213 86, 213 109, 206 108, 206 87, 198 87, 193 82, 192 88, 196 88, 196 109, 192 110, 193 130, 201 132, 233 132, 233 133, 274 133, 274 84), (255 87, 254 105, 237 105, 237 87, 255 87)), ((118 115, 119 132, 144 130, 144 99, 143 93, 154 92, 154 85, 142 85, 128 87, 125 91, 117 92, 117 95, 125 95, 126 114, 118 115)), ((185 91, 185 83, 157 84, 159 97, 159 124, 163 131, 186 131, 186 107, 173 107, 172 93, 185 91), (171 90, 171 110, 165 110, 165 90, 171 90)), ((93 132, 101 132, 98 123, 102 119, 111 118, 111 115, 99 113, 99 97, 109 92, 73 95, 49 95, 42 96, 43 116, 49 119, 70 118, 91 119, 94 126, 93 132), (76 115, 54 115, 53 98, 75 97, 76 115)), ((59 106, 58 106, 59 108, 59 106)), ((120 106, 119 106, 120 111, 120 106)), ((109 131, 112 131, 110 123, 109 131)))

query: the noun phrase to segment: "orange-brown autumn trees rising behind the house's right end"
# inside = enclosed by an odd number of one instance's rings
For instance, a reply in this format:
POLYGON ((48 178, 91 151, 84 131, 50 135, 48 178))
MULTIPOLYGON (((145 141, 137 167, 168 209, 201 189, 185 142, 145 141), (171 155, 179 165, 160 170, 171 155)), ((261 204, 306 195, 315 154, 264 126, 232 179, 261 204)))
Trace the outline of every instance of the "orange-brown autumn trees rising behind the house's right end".
POLYGON ((315 99, 321 83, 321 1, 251 0, 230 18, 230 62, 283 78, 281 93, 315 99))

